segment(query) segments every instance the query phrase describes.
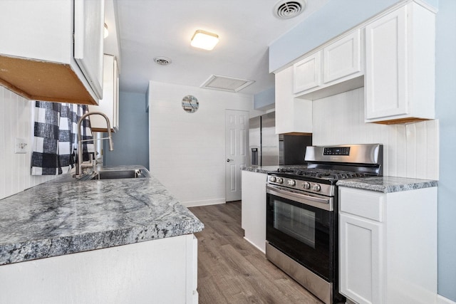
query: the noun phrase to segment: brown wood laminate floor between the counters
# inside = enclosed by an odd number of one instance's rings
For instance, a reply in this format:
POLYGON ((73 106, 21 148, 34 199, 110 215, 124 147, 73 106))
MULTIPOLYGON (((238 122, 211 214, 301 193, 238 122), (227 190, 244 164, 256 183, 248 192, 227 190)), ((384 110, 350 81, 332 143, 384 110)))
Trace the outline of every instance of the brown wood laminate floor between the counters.
POLYGON ((198 239, 199 304, 321 304, 244 240, 241 202, 191 207, 203 223, 198 239))

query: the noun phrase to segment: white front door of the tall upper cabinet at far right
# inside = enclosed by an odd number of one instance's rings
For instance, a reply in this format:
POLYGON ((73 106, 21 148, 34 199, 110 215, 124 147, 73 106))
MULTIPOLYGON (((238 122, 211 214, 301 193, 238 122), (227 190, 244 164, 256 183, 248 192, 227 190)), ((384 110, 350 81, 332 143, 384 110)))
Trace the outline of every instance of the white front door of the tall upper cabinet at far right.
POLYGON ((366 119, 408 113, 405 6, 366 26, 366 119))

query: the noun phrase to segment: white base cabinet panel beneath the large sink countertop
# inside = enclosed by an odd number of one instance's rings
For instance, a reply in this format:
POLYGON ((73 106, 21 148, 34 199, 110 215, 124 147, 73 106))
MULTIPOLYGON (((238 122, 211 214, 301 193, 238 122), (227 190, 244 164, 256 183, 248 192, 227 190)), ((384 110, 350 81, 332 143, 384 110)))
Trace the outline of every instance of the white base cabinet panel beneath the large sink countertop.
POLYGON ((0 266, 0 303, 198 303, 193 234, 0 266))

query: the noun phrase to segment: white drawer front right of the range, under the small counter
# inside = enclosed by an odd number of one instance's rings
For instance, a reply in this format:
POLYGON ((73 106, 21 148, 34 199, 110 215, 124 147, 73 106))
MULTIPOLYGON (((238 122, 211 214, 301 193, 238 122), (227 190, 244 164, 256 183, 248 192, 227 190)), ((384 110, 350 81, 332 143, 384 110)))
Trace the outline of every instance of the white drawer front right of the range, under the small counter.
POLYGON ((383 221, 385 194, 346 187, 339 188, 341 205, 339 210, 349 214, 383 221))

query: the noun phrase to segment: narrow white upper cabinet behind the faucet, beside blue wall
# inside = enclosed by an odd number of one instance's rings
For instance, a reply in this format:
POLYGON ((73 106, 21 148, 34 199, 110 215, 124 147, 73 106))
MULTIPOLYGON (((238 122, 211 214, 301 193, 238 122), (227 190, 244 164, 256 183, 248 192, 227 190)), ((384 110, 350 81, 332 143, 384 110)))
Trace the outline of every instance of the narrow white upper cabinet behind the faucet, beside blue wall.
MULTIPOLYGON (((103 112, 108 116, 111 131, 119 130, 119 88, 118 63, 115 56, 104 55, 103 99, 98 105, 89 105, 89 112, 103 112)), ((93 132, 108 132, 106 120, 101 115, 90 115, 93 132)))

